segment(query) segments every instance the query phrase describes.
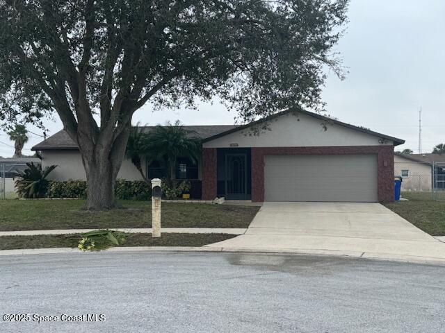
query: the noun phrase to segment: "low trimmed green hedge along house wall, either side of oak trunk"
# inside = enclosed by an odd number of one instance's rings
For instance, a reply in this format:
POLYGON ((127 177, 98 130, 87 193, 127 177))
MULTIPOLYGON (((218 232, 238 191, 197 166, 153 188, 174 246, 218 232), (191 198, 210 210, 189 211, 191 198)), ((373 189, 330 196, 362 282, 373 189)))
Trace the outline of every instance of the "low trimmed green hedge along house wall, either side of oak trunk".
MULTIPOLYGON (((147 200, 152 196, 150 185, 142 180, 116 180, 115 195, 118 199, 147 200)), ((67 180, 51 182, 47 192, 48 198, 86 198, 85 180, 67 180)))

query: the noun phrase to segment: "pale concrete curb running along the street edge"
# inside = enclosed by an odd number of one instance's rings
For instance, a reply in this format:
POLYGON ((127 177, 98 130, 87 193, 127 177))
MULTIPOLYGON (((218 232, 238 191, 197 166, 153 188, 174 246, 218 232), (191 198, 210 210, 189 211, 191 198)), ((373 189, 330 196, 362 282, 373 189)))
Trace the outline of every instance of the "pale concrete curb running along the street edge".
MULTIPOLYGON (((261 249, 261 248, 223 248, 223 247, 186 247, 186 246, 128 246, 108 248, 100 253, 131 253, 131 252, 197 252, 197 253, 250 253, 250 254, 273 254, 273 255, 307 255, 317 257, 343 257, 350 259, 367 259, 375 261, 401 262, 410 264, 432 264, 445 266, 445 259, 433 257, 415 257, 411 255, 391 255, 385 253, 361 253, 338 250, 296 250, 296 249, 261 249)), ((69 254, 90 255, 98 252, 81 252, 76 248, 27 248, 17 250, 0 250, 3 255, 46 255, 46 254, 69 254)))

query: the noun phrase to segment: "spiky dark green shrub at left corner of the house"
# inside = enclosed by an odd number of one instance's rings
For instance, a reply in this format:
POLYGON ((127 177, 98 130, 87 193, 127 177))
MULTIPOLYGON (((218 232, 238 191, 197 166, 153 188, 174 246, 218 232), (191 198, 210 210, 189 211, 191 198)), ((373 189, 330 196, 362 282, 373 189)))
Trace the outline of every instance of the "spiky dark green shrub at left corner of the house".
POLYGON ((47 195, 49 180, 47 176, 57 166, 51 165, 42 170, 42 164, 26 163, 28 169, 17 173, 15 188, 19 198, 43 198, 47 195))

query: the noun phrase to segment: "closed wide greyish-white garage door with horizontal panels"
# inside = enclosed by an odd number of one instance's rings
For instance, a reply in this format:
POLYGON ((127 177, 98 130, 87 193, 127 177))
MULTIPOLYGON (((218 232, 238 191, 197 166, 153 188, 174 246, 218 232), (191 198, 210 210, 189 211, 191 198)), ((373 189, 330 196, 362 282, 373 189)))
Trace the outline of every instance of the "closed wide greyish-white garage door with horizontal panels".
POLYGON ((264 200, 375 202, 376 155, 267 155, 264 200))

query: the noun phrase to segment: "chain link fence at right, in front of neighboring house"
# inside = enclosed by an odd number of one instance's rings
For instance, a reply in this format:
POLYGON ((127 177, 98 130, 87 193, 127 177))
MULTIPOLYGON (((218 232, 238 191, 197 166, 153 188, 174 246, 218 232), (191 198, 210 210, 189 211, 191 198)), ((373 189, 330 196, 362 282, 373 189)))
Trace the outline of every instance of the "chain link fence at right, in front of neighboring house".
POLYGON ((402 177, 402 197, 403 192, 421 192, 445 200, 445 162, 394 162, 394 176, 402 177))

